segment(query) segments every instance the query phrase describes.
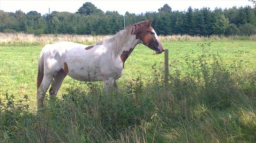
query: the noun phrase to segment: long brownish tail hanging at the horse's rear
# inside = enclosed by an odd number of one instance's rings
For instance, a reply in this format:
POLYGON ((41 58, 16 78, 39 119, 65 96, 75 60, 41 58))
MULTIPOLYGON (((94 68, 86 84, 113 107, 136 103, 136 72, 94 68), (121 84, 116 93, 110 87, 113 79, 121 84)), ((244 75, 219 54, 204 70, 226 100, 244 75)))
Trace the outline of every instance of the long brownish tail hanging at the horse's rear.
POLYGON ((44 51, 41 51, 37 67, 37 89, 40 87, 44 77, 44 51))

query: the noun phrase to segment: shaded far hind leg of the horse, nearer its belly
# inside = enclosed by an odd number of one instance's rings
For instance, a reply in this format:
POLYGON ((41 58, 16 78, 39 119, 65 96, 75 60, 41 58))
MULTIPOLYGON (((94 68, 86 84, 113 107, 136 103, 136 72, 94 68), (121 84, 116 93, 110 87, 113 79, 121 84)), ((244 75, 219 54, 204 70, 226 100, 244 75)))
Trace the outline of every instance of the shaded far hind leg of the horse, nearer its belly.
POLYGON ((66 77, 66 75, 67 75, 67 74, 64 72, 64 70, 61 69, 61 70, 57 73, 57 75, 54 77, 54 79, 53 79, 53 85, 52 85, 52 87, 51 87, 50 90, 49 90, 49 95, 50 95, 51 97, 53 97, 53 96, 56 97, 56 95, 57 95, 57 93, 58 93, 58 91, 59 91, 59 88, 60 88, 60 86, 61 86, 61 84, 62 84, 62 81, 64 80, 64 78, 66 77))

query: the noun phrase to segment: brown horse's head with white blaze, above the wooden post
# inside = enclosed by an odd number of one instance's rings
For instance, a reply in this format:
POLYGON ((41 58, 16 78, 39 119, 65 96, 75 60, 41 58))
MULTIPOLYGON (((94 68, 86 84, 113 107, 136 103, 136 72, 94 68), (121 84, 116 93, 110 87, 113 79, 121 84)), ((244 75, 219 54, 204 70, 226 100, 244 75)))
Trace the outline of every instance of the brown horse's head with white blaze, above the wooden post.
POLYGON ((152 21, 153 18, 147 21, 139 22, 134 34, 136 34, 136 38, 139 38, 142 44, 154 50, 156 54, 159 54, 164 50, 158 36, 155 33, 155 30, 151 26, 152 21))

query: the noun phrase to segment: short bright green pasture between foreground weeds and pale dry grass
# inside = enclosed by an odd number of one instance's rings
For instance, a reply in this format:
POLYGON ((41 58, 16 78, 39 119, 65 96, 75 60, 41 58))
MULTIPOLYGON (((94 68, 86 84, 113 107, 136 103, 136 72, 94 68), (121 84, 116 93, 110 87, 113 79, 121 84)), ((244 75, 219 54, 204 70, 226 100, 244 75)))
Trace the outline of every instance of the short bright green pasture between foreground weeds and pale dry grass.
MULTIPOLYGON (((180 62, 181 69, 185 63, 184 57, 197 59, 205 54, 218 54, 223 61, 230 65, 233 61, 242 61, 243 69, 255 68, 256 45, 255 41, 219 40, 219 41, 169 41, 162 42, 164 49, 169 49, 169 64, 180 62)), ((14 94, 16 98, 23 98, 28 95, 32 107, 36 106, 36 78, 37 62, 41 49, 44 45, 35 44, 6 44, 0 49, 0 91, 14 94)), ((155 52, 146 46, 139 44, 126 60, 124 74, 119 79, 119 86, 122 87, 128 79, 135 79, 138 76, 150 79, 152 77, 152 65, 156 63, 164 67, 164 53, 155 55, 155 52)), ((163 68, 164 70, 164 68, 163 68)), ((172 67, 170 67, 172 70, 172 67)), ((182 70, 186 70, 185 68, 182 70)), ((65 92, 65 88, 71 85, 81 85, 66 77, 63 81, 59 95, 65 92)))

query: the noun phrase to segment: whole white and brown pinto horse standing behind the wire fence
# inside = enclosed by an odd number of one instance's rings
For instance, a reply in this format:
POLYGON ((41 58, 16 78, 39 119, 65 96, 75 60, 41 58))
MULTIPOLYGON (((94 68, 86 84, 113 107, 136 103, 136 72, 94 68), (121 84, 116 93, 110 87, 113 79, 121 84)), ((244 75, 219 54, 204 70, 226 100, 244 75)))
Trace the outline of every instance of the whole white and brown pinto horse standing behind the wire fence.
POLYGON ((113 37, 92 45, 66 41, 45 45, 38 60, 38 109, 43 105, 51 81, 49 94, 56 96, 66 75, 80 81, 103 81, 104 88, 112 85, 118 88, 117 79, 123 74, 124 62, 137 44, 146 45, 156 54, 164 51, 151 26, 152 21, 153 18, 134 23, 113 37))

